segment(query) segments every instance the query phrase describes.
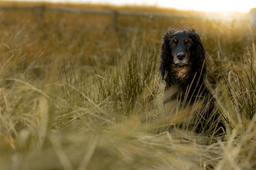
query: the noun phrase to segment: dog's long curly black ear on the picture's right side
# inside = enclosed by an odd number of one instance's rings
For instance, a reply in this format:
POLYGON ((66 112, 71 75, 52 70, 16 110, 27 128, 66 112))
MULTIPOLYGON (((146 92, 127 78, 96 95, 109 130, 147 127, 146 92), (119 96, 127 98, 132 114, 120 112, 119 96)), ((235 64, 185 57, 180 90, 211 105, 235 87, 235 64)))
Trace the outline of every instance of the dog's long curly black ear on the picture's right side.
POLYGON ((205 66, 205 49, 202 45, 202 41, 200 39, 200 36, 194 31, 190 31, 191 38, 194 41, 194 56, 193 59, 195 59, 196 67, 198 68, 198 73, 201 74, 202 78, 205 78, 206 75, 206 66, 205 66))

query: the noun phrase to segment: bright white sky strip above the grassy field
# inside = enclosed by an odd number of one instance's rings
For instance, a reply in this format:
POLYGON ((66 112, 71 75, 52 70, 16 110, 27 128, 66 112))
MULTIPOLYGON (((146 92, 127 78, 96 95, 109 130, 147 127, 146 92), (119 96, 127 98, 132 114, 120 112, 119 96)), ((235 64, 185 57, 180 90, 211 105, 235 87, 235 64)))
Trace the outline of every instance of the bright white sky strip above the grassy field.
MULTIPOLYGON (((22 1, 22 0, 21 0, 22 1)), ((23 0, 24 1, 24 0, 23 0)), ((26 1, 26 0, 25 0, 26 1)), ((36 0, 27 0, 36 1, 36 0)), ((182 10, 199 11, 239 11, 246 13, 256 8, 256 0, 47 0, 53 2, 100 3, 100 4, 136 4, 156 5, 182 10)))

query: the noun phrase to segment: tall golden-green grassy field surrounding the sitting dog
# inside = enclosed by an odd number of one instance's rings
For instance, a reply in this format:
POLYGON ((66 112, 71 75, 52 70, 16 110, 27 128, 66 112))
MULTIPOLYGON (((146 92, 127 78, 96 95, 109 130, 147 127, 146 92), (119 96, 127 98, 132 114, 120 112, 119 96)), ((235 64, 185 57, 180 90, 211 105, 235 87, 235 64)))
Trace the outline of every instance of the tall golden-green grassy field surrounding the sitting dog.
POLYGON ((79 7, 189 17, 119 16, 114 30, 108 15, 45 11, 42 20, 33 11, 0 11, 0 169, 256 169, 247 15, 79 7), (159 48, 163 34, 180 27, 194 27, 207 51, 207 84, 227 119, 222 140, 168 131, 159 48))

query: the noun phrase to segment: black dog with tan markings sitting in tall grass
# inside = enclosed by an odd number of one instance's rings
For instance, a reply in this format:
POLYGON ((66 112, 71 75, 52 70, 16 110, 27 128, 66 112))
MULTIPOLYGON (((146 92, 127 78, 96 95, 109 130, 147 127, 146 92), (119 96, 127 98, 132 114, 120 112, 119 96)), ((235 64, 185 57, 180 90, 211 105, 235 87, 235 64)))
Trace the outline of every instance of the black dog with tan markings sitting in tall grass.
POLYGON ((195 30, 172 30, 164 34, 160 71, 166 82, 165 106, 180 101, 178 107, 189 108, 200 102, 200 115, 192 121, 196 132, 209 131, 209 127, 212 127, 210 123, 213 122, 217 126, 211 131, 225 131, 225 126, 220 122, 220 114, 211 114, 215 108, 215 99, 205 85, 205 49, 195 30), (172 88, 174 92, 170 92, 172 88))

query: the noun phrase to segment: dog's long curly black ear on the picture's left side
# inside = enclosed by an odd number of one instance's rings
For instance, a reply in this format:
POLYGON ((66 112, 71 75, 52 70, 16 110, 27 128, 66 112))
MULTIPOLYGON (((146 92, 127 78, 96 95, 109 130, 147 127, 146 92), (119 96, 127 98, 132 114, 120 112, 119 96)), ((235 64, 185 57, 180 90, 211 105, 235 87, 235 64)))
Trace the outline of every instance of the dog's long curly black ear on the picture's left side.
POLYGON ((172 60, 172 52, 170 48, 170 38, 172 36, 172 31, 167 32, 163 36, 163 43, 161 45, 161 53, 160 53, 160 59, 161 59, 161 76, 162 80, 165 80, 165 76, 168 72, 168 66, 170 67, 170 61, 172 60))

